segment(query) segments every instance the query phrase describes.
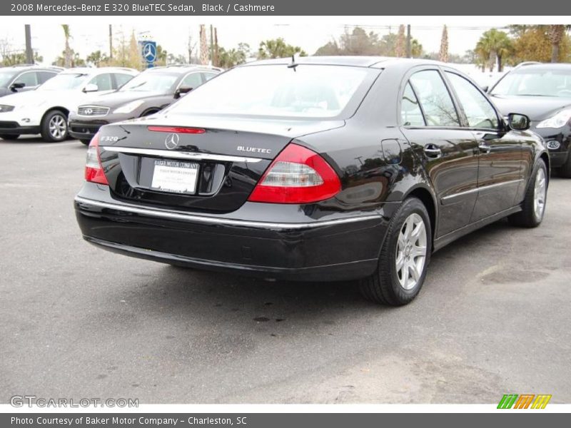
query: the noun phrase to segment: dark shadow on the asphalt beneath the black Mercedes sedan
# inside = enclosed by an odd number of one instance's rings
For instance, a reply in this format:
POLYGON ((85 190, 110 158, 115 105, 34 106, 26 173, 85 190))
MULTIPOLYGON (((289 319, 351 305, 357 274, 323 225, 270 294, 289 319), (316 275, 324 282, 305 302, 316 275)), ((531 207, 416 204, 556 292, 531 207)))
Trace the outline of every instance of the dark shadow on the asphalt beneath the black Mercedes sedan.
MULTIPOLYGON (((475 233, 466 235, 455 243, 434 253, 428 272, 450 269, 451 260, 461 258, 463 253, 473 253, 474 248, 489 240, 500 239, 510 229, 507 221, 487 225, 475 233)), ((204 316, 211 320, 216 314, 217 322, 233 322, 237 318, 260 322, 303 321, 315 318, 316 322, 332 322, 355 313, 377 316, 409 308, 423 303, 421 291, 418 298, 405 307, 385 307, 365 300, 356 282, 288 282, 267 281, 220 272, 157 265, 152 273, 137 274, 144 285, 132 296, 143 310, 165 315, 177 312, 183 317, 204 316), (358 310, 359 312, 355 312, 358 310)), ((360 315, 360 316, 361 316, 360 315)))

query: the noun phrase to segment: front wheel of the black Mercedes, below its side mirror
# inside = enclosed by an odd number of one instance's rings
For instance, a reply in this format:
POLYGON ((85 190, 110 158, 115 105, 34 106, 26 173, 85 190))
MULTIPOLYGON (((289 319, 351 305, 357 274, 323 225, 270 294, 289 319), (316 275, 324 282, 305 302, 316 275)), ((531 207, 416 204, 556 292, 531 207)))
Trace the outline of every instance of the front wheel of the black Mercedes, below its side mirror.
POLYGON ((542 159, 535 163, 531 177, 522 202, 522 210, 507 218, 510 224, 522 228, 537 228, 545 214, 549 178, 547 177, 547 167, 542 159))

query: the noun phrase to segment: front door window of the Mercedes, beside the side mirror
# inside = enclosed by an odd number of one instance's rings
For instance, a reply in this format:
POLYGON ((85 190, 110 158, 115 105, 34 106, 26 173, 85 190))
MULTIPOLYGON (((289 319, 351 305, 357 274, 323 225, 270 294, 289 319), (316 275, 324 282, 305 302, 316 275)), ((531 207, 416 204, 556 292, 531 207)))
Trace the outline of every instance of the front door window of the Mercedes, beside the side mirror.
POLYGON ((446 72, 452 87, 468 119, 470 128, 493 128, 498 126, 497 114, 485 96, 475 86, 458 74, 446 72))

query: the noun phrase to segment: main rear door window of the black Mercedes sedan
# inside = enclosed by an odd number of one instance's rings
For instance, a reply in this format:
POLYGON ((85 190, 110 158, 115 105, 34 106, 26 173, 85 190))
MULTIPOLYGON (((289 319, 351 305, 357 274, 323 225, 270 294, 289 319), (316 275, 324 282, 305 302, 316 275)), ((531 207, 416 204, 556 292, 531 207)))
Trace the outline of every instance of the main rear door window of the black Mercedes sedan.
POLYGON ((410 77, 427 126, 460 126, 448 88, 436 70, 418 71, 410 77))

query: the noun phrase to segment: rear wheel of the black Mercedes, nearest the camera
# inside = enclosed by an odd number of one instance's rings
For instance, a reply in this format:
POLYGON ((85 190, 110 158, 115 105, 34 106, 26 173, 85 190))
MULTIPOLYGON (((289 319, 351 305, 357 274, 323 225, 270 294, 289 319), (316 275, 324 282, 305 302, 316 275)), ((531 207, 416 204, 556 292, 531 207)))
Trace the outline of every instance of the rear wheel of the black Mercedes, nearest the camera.
POLYGON ((431 249, 428 211, 418 198, 408 198, 390 220, 377 270, 360 280, 363 297, 381 305, 410 303, 423 287, 431 249))

